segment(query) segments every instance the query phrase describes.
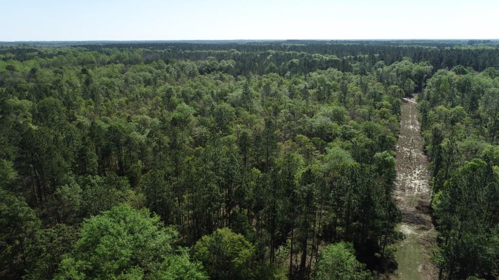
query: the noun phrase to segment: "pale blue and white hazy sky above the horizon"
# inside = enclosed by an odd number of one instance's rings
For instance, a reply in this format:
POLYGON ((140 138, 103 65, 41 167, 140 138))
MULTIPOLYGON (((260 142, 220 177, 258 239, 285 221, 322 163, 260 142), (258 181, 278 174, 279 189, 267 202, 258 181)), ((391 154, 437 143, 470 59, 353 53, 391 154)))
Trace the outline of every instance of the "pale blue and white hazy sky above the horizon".
POLYGON ((0 10, 0 41, 499 38, 499 0, 0 0, 0 10))

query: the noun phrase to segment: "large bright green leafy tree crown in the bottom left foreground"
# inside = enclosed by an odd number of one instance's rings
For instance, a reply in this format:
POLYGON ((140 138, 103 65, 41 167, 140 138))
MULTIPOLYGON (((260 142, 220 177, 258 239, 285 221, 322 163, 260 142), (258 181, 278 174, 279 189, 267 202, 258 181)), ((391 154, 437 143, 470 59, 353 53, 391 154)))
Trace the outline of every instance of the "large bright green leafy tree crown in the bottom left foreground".
POLYGON ((185 265, 175 261, 179 257, 171 243, 176 236, 175 230, 165 228, 147 209, 115 206, 83 222, 80 239, 61 261, 54 279, 172 279, 167 276, 178 273, 176 269, 201 276, 190 279, 205 279, 201 266, 188 265, 185 254, 181 257, 185 265))

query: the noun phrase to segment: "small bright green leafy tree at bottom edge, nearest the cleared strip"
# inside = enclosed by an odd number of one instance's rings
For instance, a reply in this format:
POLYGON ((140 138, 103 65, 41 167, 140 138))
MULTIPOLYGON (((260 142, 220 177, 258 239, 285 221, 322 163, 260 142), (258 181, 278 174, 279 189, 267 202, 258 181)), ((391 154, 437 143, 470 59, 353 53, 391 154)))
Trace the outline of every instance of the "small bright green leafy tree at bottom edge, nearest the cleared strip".
POLYGON ((369 280, 371 274, 355 259, 351 243, 329 244, 319 252, 314 280, 369 280))

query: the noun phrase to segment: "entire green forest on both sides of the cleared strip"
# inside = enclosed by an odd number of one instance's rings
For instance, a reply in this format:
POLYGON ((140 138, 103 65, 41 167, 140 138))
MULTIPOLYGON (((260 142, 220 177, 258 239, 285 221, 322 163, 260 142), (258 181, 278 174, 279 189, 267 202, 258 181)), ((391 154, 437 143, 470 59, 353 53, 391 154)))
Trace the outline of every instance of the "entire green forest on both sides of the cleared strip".
POLYGON ((498 276, 498 41, 0 46, 2 279, 378 279, 420 93, 445 279, 498 276))

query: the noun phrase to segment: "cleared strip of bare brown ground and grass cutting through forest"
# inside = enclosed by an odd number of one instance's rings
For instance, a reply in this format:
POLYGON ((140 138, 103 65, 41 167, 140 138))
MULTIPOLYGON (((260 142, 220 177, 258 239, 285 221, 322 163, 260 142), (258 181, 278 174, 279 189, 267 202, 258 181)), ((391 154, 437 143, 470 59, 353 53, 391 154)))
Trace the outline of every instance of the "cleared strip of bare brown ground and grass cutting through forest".
POLYGON ((395 200, 402 211, 397 229, 405 238, 394 246, 398 268, 392 280, 436 280, 438 276, 430 259, 437 232, 431 217, 428 158, 423 153, 416 105, 415 98, 402 103, 395 200))

